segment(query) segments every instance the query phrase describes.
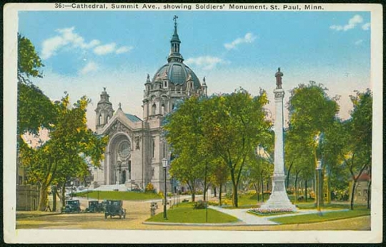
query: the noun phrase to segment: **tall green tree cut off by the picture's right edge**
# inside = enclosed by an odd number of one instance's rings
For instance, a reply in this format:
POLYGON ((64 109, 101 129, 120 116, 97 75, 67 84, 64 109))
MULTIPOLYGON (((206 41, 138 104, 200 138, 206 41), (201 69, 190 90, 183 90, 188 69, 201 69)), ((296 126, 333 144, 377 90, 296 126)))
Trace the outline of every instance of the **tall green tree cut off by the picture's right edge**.
POLYGON ((357 179, 366 168, 371 168, 372 158, 372 92, 355 91, 350 96, 354 109, 351 119, 346 123, 346 148, 342 153, 345 165, 352 177, 350 208, 354 209, 355 188, 357 179))

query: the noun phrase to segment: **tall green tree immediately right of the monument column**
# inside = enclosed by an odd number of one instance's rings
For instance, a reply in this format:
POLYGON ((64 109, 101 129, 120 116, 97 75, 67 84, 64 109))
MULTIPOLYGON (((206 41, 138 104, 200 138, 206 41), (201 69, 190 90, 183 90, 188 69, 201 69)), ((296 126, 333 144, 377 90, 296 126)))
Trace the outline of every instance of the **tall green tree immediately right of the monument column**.
POLYGON ((287 166, 291 167, 292 162, 301 162, 298 164, 302 167, 298 168, 299 175, 305 179, 306 200, 307 181, 315 173, 317 159, 323 158, 322 146, 315 143, 315 136, 331 128, 339 111, 337 98, 331 99, 326 91, 322 84, 310 81, 308 85, 300 84, 292 89, 289 97, 289 133, 285 145, 290 162, 287 166))

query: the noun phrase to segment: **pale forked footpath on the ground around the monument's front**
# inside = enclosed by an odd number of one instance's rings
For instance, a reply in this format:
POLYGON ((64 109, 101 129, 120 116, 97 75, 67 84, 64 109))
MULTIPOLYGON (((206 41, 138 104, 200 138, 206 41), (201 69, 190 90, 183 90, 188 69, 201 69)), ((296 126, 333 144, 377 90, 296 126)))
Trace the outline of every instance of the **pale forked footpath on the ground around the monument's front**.
MULTIPOLYGON (((279 218, 279 217, 299 216, 303 214, 317 213, 316 209, 308 209, 308 210, 303 209, 303 210, 297 211, 296 213, 279 214, 276 216, 254 216, 251 213, 247 213, 249 208, 227 209, 227 208, 220 208, 217 206, 209 206, 209 208, 212 208, 222 213, 227 213, 230 216, 234 216, 238 218, 240 221, 246 223, 247 225, 277 225, 278 223, 270 220, 273 218, 279 218)), ((331 211, 348 211, 348 209, 323 210, 322 212, 326 213, 331 211)))

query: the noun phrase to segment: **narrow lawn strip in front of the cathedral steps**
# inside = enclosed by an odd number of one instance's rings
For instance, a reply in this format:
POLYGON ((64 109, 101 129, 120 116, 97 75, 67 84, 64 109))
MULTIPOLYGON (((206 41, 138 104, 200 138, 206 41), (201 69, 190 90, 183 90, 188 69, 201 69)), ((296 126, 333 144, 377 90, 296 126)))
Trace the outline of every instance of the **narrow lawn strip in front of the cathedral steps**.
MULTIPOLYGON (((87 192, 75 193, 75 196, 87 197, 87 192)), ((89 198, 99 198, 99 200, 139 201, 160 199, 162 197, 157 193, 142 193, 134 191, 92 191, 89 192, 89 198)))

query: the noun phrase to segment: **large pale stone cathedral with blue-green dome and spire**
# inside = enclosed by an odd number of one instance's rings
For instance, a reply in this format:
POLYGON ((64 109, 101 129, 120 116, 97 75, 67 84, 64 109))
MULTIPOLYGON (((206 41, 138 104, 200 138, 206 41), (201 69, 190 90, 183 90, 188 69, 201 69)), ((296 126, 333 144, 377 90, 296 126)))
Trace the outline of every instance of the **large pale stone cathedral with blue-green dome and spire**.
POLYGON ((163 191, 162 159, 170 161, 167 142, 162 136, 164 116, 173 111, 177 101, 192 95, 207 95, 205 79, 202 84, 180 54, 181 41, 177 33, 177 16, 174 16, 174 33, 170 40, 167 64, 154 74, 147 74, 142 100, 143 118, 124 113, 119 104, 114 111, 109 94, 104 88, 96 112, 96 130, 109 136, 101 168, 94 169, 93 186, 119 190, 144 190, 152 183, 163 191))

